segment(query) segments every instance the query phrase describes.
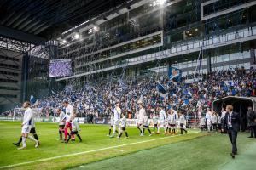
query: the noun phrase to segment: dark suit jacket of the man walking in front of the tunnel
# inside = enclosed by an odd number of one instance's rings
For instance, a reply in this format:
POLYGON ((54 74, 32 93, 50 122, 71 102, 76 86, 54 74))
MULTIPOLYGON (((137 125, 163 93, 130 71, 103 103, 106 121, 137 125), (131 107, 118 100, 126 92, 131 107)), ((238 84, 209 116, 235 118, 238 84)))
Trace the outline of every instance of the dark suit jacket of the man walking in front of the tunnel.
MULTIPOLYGON (((224 121, 222 123, 222 128, 228 127, 228 120, 229 120, 229 113, 227 112, 224 116, 224 121)), ((233 130, 238 132, 240 130, 240 115, 239 113, 236 113, 233 111, 231 116, 231 124, 233 127, 233 130)))

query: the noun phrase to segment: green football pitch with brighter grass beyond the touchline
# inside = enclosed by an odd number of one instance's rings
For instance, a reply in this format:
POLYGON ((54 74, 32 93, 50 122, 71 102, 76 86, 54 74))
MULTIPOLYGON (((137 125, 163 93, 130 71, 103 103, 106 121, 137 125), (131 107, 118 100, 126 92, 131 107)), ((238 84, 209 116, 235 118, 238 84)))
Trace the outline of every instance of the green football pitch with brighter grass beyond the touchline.
MULTIPOLYGON (((17 150, 12 143, 20 138, 20 122, 0 122, 0 169, 234 169, 227 167, 232 160, 224 134, 189 130, 185 135, 149 137, 146 131, 140 137, 136 127, 128 127, 129 139, 125 135, 110 139, 107 125, 80 127, 83 142, 64 144, 59 141, 57 124, 37 123, 39 148, 27 140, 26 150, 17 150)), ((247 139, 247 135, 239 134, 240 153, 255 145, 256 139, 247 139)))

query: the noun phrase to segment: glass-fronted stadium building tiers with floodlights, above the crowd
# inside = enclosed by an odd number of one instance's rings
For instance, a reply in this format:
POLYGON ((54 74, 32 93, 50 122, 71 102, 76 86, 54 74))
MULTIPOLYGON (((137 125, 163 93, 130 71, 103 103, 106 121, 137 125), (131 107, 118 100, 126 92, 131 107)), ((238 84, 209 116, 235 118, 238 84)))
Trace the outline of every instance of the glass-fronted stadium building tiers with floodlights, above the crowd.
POLYGON ((59 59, 73 59, 73 76, 183 76, 255 65, 253 0, 133 1, 63 32, 59 59))

